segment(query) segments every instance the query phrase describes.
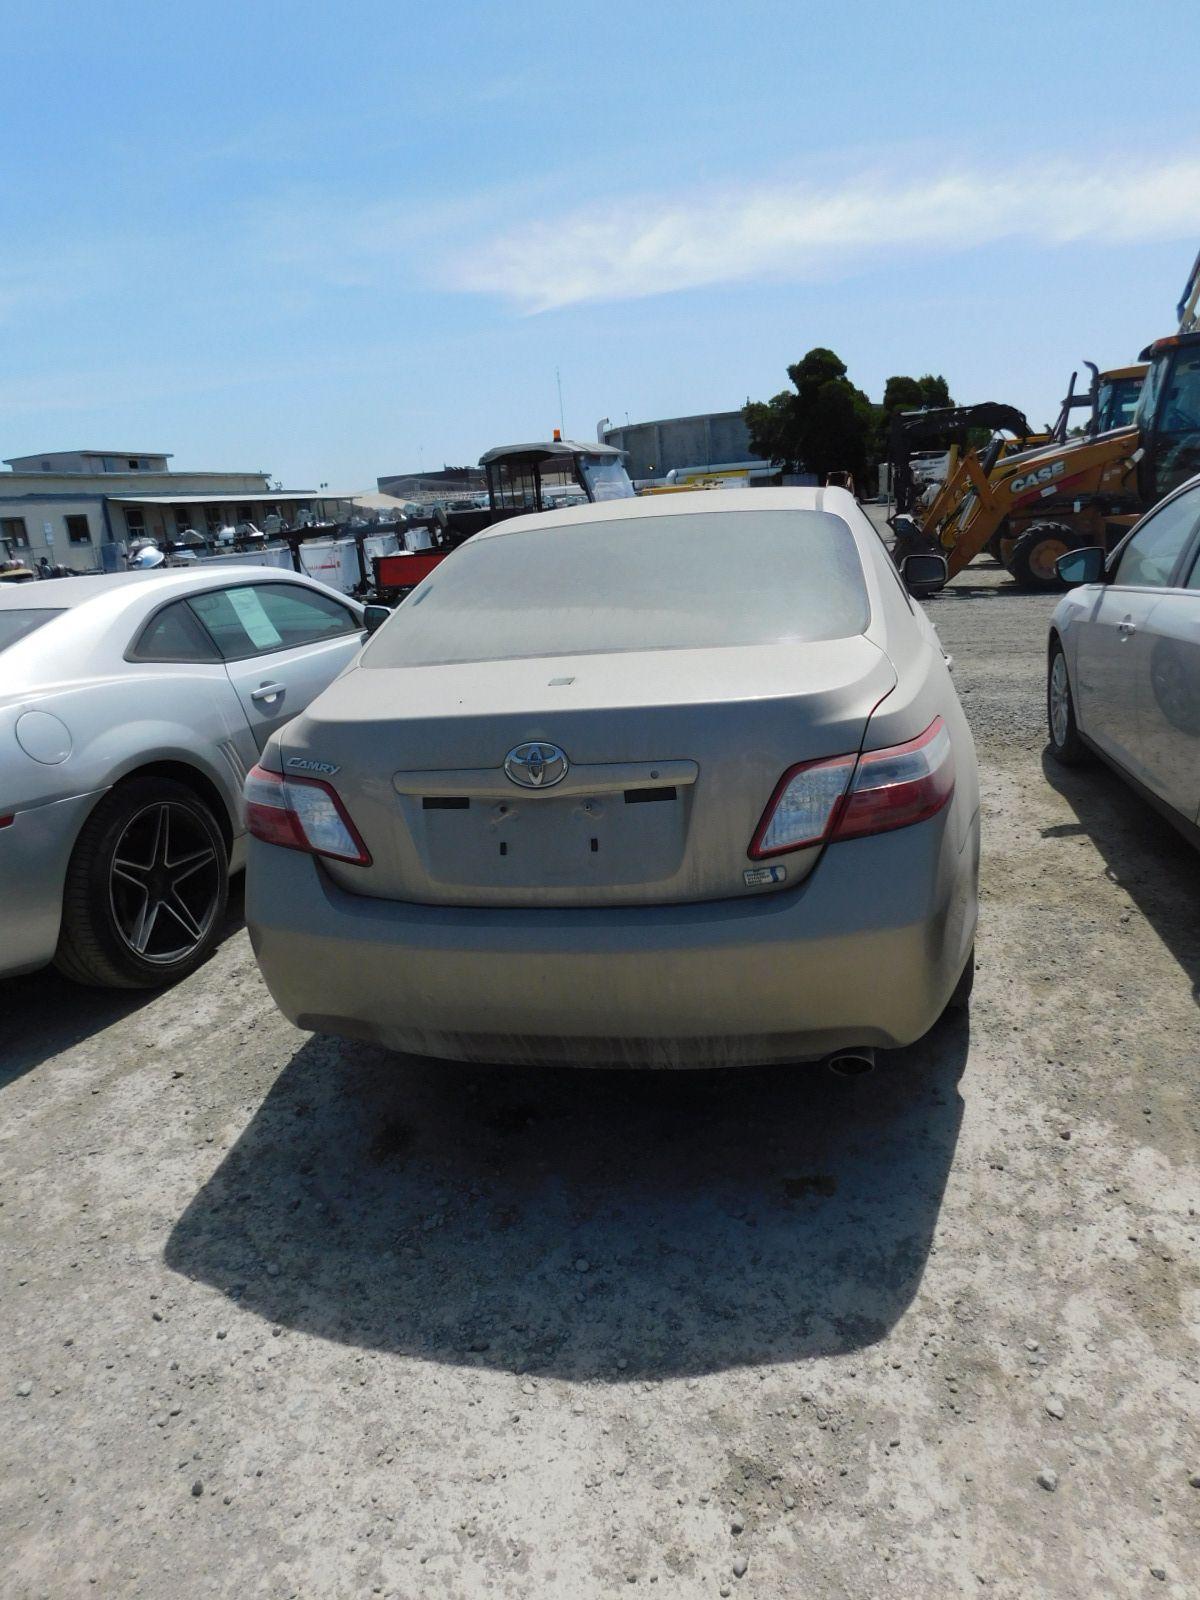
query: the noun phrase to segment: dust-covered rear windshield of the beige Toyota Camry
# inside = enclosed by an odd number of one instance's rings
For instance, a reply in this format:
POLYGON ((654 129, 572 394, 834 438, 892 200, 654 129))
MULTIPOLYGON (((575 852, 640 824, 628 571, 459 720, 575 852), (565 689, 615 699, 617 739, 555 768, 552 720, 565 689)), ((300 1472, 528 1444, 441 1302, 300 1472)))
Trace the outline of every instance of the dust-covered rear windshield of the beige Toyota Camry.
POLYGON ((362 666, 813 643, 869 621, 854 536, 832 512, 630 517, 462 546, 362 666))

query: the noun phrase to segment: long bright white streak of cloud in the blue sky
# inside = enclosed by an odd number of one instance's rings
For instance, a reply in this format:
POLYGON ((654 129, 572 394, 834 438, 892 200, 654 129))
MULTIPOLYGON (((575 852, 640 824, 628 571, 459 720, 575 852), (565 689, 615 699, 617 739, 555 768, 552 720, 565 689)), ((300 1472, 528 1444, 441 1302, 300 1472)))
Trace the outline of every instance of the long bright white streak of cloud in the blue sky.
POLYGON ((448 274, 458 288, 538 312, 805 277, 898 248, 1190 238, 1198 216, 1200 157, 1104 170, 1038 165, 1002 176, 952 170, 901 182, 872 174, 838 187, 762 184, 586 208, 483 240, 456 254, 448 274))

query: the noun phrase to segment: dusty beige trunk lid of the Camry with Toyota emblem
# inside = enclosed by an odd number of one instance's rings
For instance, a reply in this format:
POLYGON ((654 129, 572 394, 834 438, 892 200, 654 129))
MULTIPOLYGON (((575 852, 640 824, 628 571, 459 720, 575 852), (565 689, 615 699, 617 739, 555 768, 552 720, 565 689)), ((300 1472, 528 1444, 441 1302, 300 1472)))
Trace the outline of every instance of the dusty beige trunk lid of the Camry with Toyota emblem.
POLYGON ((354 893, 514 907, 762 894, 819 854, 773 872, 747 859, 781 773, 858 750, 894 683, 862 635, 360 667, 283 731, 282 758, 326 773, 354 816, 371 866, 325 862, 354 893), (530 744, 549 758, 542 787, 506 773, 530 744))

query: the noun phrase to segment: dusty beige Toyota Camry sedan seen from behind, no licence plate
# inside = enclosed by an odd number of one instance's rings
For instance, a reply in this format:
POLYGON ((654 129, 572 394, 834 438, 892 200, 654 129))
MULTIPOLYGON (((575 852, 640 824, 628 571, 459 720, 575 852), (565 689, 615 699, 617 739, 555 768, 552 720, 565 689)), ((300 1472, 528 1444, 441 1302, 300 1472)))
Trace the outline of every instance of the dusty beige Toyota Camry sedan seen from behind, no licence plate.
POLYGON ((979 862, 971 734, 909 592, 941 582, 845 490, 477 534, 250 774, 277 1003, 464 1061, 918 1038, 970 992, 979 862))

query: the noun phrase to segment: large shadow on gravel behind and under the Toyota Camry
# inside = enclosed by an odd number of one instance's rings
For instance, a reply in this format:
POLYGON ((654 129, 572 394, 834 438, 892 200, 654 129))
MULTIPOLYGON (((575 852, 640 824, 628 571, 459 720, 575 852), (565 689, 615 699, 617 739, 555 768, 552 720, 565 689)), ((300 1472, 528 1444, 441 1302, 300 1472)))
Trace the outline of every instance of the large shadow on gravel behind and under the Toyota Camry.
POLYGON ((622 1381, 861 1349, 925 1269, 970 1026, 826 1067, 464 1067, 309 1040, 168 1264, 355 1347, 622 1381))

